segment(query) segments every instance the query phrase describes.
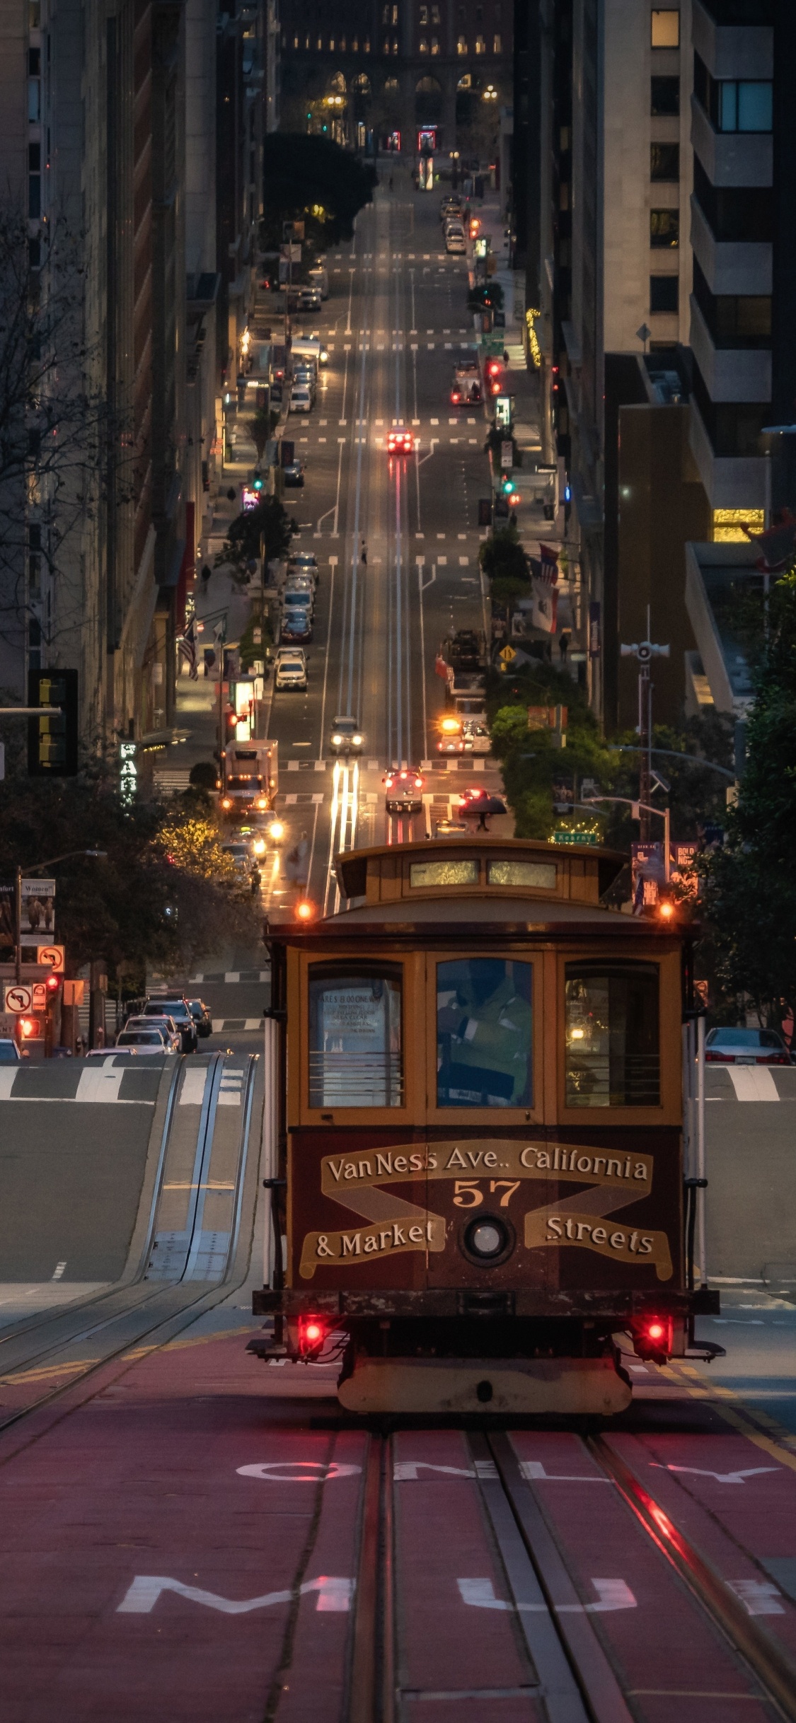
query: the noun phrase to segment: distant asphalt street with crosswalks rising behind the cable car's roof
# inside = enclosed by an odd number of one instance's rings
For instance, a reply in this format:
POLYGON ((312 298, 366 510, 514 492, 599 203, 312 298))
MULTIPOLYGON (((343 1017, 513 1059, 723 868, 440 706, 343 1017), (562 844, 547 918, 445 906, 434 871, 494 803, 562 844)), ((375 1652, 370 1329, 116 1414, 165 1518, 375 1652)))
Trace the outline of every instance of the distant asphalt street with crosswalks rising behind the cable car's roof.
POLYGON ((405 174, 395 179, 396 190, 379 190, 360 214, 355 239, 329 255, 320 315, 295 319, 295 329, 312 327, 329 346, 314 412, 288 420, 307 481, 286 491, 286 503, 300 522, 298 546, 317 555, 320 586, 308 689, 276 693, 267 717, 286 820, 286 839, 264 867, 269 915, 305 886, 329 913, 339 906, 338 849, 422 837, 463 784, 494 782, 489 762, 450 772, 436 755, 439 641, 457 627, 488 627, 477 562, 488 420, 482 407, 453 410, 448 400, 457 357, 476 353, 467 260, 445 253, 439 198, 414 191, 405 174), (414 457, 388 457, 395 424, 414 431, 414 457), (348 767, 329 746, 341 713, 365 737, 362 760, 348 767), (388 820, 384 768, 422 762, 432 765, 424 813, 388 820), (302 834, 296 880, 286 858, 302 834))

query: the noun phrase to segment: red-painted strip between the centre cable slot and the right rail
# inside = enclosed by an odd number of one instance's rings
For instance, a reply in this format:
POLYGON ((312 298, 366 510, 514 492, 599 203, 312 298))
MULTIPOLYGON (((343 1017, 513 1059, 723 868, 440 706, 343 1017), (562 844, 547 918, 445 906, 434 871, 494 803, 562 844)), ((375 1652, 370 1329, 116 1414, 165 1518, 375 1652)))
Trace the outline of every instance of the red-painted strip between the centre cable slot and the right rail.
MULTIPOLYGON (((701 1437, 700 1437, 701 1440, 701 1437)), ((634 1716, 763 1723, 774 1709, 575 1435, 513 1432, 527 1487, 563 1554, 634 1716), (622 1582, 627 1597, 600 1589, 622 1582)))

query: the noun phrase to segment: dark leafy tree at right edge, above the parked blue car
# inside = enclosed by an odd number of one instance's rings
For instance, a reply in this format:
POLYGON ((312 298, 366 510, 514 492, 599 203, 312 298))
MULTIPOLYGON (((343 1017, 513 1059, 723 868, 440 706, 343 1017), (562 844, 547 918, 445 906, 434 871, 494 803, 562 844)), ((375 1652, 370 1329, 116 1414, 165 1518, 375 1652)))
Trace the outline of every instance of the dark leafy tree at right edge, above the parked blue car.
POLYGON ((701 908, 724 1006, 777 1027, 796 1008, 796 570, 772 588, 746 770, 725 843, 703 856, 701 908))

